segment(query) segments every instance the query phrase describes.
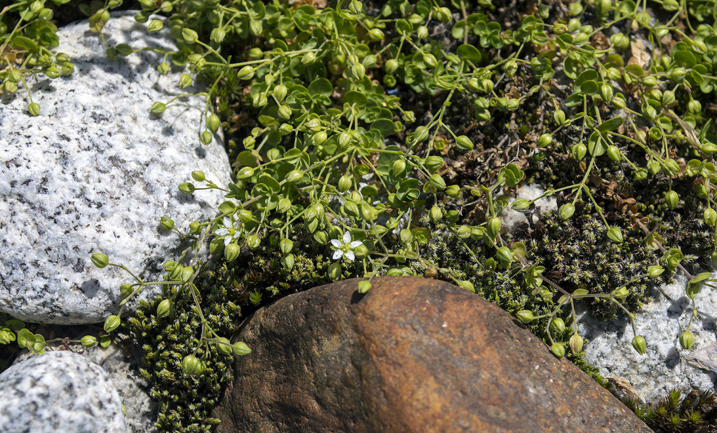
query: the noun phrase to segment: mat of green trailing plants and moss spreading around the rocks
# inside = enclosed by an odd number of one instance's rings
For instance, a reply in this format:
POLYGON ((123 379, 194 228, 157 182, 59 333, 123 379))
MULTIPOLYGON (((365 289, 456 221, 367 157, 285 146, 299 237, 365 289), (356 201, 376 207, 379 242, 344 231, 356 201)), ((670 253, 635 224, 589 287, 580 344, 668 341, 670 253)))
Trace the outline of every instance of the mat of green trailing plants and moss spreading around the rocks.
MULTIPOLYGON (((197 142, 224 130, 234 182, 194 172, 177 183, 227 201, 212 220, 166 215, 186 250, 167 258, 164 281, 128 274, 118 288, 131 298, 163 283, 166 296, 83 339, 108 344, 125 326, 146 341, 161 427, 201 431, 224 363, 250 351, 229 344, 239 316, 338 279, 366 277, 361 292, 377 275, 452 281, 597 379, 581 361, 576 302, 632 321, 647 285, 679 271, 698 308, 717 262, 716 3, 14 0, 0 11, 0 81, 37 115, 25 78, 72 74, 53 50, 54 16, 86 14, 100 31, 111 9, 135 7, 147 31, 168 26, 176 41, 154 66, 186 67, 180 88, 206 82, 197 142), (513 200, 532 183, 559 210, 508 230, 508 209, 537 212, 537 199, 513 200), (214 265, 186 260, 200 248, 214 265), (189 395, 200 383, 207 394, 189 395)), ((92 256, 122 266, 111 259, 92 256)), ((42 351, 29 328, 9 321, 0 342, 42 351)), ((647 344, 634 335, 638 353, 647 344)))

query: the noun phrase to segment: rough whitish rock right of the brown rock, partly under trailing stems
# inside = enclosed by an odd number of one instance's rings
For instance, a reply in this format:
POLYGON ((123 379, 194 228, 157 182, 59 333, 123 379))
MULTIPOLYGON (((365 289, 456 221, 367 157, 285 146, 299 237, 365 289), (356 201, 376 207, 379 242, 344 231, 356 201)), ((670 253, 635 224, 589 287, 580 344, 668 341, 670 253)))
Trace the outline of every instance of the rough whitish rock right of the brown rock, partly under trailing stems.
POLYGON ((703 288, 695 298, 698 317, 690 327, 695 345, 683 350, 678 339, 692 315, 692 303, 685 296, 686 283, 685 276, 680 275, 674 283, 653 289, 655 301, 637 313, 635 330, 647 340, 643 356, 632 349, 632 328, 626 318, 599 322, 581 313, 579 333, 588 339, 585 361, 597 366, 602 376, 626 379, 647 402, 657 402, 673 388, 712 390, 715 374, 688 364, 685 355, 715 342, 717 291, 703 288))

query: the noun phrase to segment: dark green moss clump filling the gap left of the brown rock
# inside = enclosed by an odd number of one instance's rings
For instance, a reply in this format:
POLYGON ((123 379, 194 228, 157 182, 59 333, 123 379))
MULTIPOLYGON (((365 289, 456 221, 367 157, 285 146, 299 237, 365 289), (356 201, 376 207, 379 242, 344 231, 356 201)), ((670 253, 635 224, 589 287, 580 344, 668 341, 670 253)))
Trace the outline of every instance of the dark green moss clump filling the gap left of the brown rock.
MULTIPOLYGON (((201 308, 209 326, 220 336, 237 331, 239 306, 227 301, 227 288, 219 283, 217 271, 205 271, 197 286, 201 308)), ((170 293, 167 293, 171 295, 170 293)), ((159 403, 157 426, 164 432, 210 432, 219 422, 210 416, 219 400, 222 385, 231 379, 232 356, 219 354, 214 345, 203 345, 196 356, 206 362, 201 376, 181 371, 181 361, 191 354, 201 336, 201 323, 191 293, 175 298, 174 314, 156 316, 159 299, 142 302, 127 327, 140 339, 145 366, 141 374, 151 385, 150 396, 159 403)))

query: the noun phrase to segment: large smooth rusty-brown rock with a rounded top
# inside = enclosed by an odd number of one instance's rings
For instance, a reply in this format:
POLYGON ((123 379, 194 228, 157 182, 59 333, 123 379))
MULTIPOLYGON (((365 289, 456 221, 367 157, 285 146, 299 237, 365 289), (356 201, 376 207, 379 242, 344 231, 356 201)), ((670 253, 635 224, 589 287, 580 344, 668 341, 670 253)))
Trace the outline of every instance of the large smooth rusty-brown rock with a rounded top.
POLYGON ((652 432, 508 313, 449 283, 347 280, 257 311, 217 432, 652 432))

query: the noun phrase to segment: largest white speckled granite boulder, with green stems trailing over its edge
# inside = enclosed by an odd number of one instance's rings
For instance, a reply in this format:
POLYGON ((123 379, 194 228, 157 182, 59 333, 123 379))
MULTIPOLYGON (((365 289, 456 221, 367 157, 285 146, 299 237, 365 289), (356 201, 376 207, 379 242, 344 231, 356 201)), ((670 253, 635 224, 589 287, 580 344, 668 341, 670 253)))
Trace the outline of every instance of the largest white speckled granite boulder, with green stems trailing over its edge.
MULTIPOLYGON (((148 34, 132 15, 113 14, 103 29, 110 45, 173 49, 167 30, 148 34)), ((118 287, 131 278, 95 268, 90 254, 158 278, 180 246, 159 218, 186 229, 223 201, 216 190, 186 198, 177 185, 202 170, 225 186, 231 169, 221 137, 199 144, 201 98, 149 114, 153 102, 180 92, 181 70, 156 72, 161 54, 110 62, 86 21, 57 33, 57 51, 70 55, 75 73, 30 77, 42 114, 27 115, 22 89, 0 102, 0 311, 42 323, 95 323, 118 311, 118 287)), ((144 296, 156 296, 154 287, 144 296)))

